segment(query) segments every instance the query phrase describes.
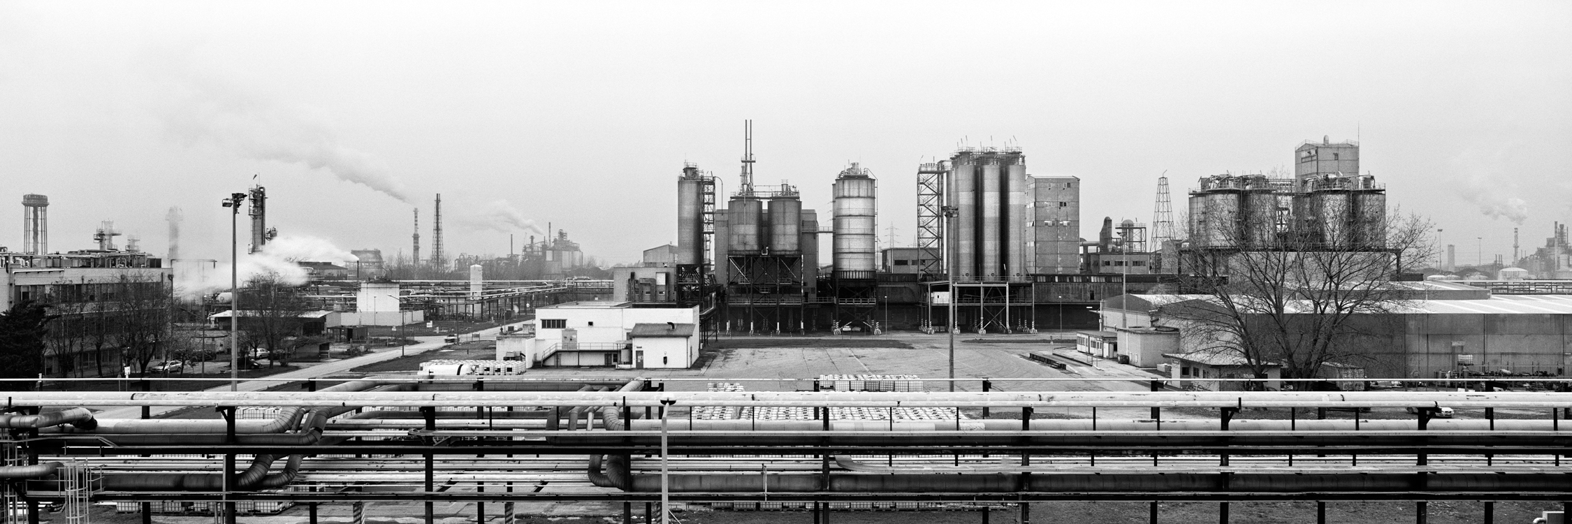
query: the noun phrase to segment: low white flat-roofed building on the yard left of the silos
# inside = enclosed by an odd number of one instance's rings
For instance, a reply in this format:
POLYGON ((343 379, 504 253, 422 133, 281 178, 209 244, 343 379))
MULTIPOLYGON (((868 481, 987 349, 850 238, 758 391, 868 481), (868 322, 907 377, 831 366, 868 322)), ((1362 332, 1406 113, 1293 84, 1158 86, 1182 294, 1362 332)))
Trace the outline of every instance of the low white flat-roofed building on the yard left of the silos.
POLYGON ((533 334, 497 337, 498 360, 618 368, 687 368, 698 360, 698 307, 567 302, 534 315, 533 334))

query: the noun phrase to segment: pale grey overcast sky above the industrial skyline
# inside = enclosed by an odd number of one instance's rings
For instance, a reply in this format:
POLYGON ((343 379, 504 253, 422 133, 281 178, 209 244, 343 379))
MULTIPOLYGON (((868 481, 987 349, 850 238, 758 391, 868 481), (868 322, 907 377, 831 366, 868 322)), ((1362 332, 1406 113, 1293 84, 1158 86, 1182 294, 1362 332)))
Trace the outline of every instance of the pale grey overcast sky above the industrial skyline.
POLYGON ((1569 27, 1569 2, 0 0, 0 245, 44 194, 52 250, 115 220, 163 253, 179 206, 182 258, 226 258, 219 203, 259 175, 270 225, 343 249, 407 253, 420 206, 429 255, 442 194, 453 255, 533 220, 634 261, 674 239, 684 161, 736 187, 753 118, 761 184, 825 211, 858 161, 898 245, 916 165, 962 142, 1080 176, 1096 236, 1149 222, 1163 172, 1179 209, 1360 140, 1473 263, 1572 220, 1569 27))

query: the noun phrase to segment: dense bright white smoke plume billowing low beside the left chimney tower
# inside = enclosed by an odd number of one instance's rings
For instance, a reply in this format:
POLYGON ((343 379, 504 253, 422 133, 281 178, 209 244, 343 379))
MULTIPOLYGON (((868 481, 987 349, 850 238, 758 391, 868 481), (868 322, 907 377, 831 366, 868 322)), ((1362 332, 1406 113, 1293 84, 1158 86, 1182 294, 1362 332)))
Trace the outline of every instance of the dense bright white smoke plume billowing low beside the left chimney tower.
MULTIPOLYGON (((242 286, 255 277, 269 274, 278 275, 280 282, 302 285, 307 282, 310 274, 305 268, 300 268, 297 261, 347 264, 357 260, 360 258, 354 253, 333 245, 333 242, 325 239, 302 234, 285 234, 269 241, 267 245, 256 253, 242 253, 234 268, 237 269, 242 286)), ((187 297, 225 291, 230 290, 230 263, 219 261, 211 271, 178 271, 174 279, 174 288, 187 297)))

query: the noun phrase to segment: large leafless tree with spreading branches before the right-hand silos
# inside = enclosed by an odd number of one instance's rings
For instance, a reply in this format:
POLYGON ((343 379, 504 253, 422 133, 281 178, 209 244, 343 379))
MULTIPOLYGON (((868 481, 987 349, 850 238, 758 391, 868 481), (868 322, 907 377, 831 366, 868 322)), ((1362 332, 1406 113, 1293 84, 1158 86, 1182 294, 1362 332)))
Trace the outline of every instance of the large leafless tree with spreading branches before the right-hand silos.
POLYGON ((1181 293, 1159 308, 1190 348, 1239 357, 1254 378, 1316 378, 1328 362, 1353 363, 1412 288, 1398 274, 1429 256, 1431 223, 1387 212, 1383 197, 1289 198, 1264 184, 1192 200, 1181 250, 1181 293), (1199 200, 1199 201, 1198 201, 1199 200), (1379 205, 1379 208, 1377 208, 1379 205))

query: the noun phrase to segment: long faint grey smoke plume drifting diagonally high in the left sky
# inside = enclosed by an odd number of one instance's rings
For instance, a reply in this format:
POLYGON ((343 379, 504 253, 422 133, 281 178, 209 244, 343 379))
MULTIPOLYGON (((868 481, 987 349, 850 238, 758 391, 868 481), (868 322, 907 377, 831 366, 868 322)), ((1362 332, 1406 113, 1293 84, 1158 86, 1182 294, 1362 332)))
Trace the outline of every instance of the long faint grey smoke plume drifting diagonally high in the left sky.
POLYGON ((160 116, 185 145, 212 142, 248 159, 327 170, 338 179, 410 201, 409 189, 382 159, 338 143, 329 126, 305 109, 283 107, 214 77, 178 79, 170 90, 174 99, 160 116))

